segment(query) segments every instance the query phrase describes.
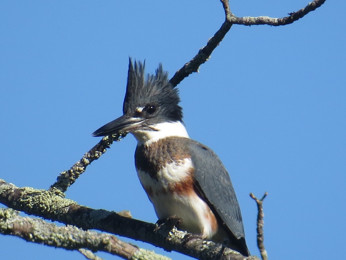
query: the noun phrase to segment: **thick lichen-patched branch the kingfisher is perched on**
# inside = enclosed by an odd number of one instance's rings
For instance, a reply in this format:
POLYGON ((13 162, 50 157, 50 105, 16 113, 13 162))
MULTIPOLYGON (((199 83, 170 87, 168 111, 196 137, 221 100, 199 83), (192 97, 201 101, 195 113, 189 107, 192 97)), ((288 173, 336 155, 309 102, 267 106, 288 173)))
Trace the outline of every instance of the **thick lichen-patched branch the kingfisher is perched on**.
POLYGON ((202 260, 258 259, 254 256, 246 258, 234 250, 210 241, 187 239, 189 236, 186 236, 186 232, 173 226, 162 225, 157 228, 154 224, 123 217, 115 212, 80 206, 75 201, 63 198, 63 193, 57 189, 46 191, 18 188, 14 184, 0 180, 0 203, 29 215, 74 225, 84 230, 98 229, 130 237, 202 260))

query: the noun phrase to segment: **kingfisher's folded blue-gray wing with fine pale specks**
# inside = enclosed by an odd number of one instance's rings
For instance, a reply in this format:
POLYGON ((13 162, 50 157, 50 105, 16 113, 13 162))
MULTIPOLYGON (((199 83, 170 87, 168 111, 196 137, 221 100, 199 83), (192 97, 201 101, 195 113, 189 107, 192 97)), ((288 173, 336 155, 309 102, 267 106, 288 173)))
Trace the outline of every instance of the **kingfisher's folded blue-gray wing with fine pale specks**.
POLYGON ((225 166, 210 148, 192 139, 189 151, 201 196, 237 239, 245 237, 239 203, 225 166))

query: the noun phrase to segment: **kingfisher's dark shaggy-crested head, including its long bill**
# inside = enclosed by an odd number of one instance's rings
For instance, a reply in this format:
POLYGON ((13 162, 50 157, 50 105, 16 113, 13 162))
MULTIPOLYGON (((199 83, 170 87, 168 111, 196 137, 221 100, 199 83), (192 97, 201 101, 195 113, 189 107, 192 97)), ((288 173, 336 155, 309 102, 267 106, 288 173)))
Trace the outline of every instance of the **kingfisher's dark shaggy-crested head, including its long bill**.
POLYGON ((160 131, 164 123, 182 124, 182 108, 178 105, 178 90, 163 71, 162 64, 155 75, 144 74, 144 64, 129 60, 128 77, 123 115, 103 125, 93 136, 107 136, 120 132, 131 132, 137 139, 147 139, 149 132, 160 131))

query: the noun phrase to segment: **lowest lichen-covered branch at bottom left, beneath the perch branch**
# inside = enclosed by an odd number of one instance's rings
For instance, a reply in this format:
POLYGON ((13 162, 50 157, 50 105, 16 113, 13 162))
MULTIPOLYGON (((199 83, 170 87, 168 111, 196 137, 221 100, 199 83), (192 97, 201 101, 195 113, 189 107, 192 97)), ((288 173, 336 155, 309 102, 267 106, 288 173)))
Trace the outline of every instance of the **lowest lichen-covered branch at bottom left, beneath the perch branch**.
POLYGON ((93 252, 104 251, 124 259, 131 259, 139 250, 110 234, 85 231, 71 225, 58 227, 43 219, 21 217, 14 209, 0 208, 0 233, 67 250, 87 248, 93 252))

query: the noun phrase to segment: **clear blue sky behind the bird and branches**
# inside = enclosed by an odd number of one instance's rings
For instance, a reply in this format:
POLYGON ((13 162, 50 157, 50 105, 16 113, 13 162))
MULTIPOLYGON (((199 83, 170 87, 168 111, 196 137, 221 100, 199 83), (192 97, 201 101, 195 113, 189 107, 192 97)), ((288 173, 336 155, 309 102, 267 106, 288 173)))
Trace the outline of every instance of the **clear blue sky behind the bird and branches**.
MULTIPOLYGON (((238 0, 231 10, 283 17, 307 3, 238 0)), ((328 0, 288 26, 235 25, 200 73, 178 86, 191 138, 211 147, 231 175, 252 254, 257 209, 249 193, 265 191, 270 259, 345 252, 345 9, 328 0)), ((94 130, 121 115, 129 56, 146 59, 147 72, 162 62, 173 76, 224 20, 217 0, 1 1, 0 12, 0 177, 38 189, 99 141, 94 130)), ((66 197, 156 222, 135 146, 130 135, 113 144, 66 197)), ((0 235, 0 245, 3 259, 84 259, 16 237, 0 235)))

